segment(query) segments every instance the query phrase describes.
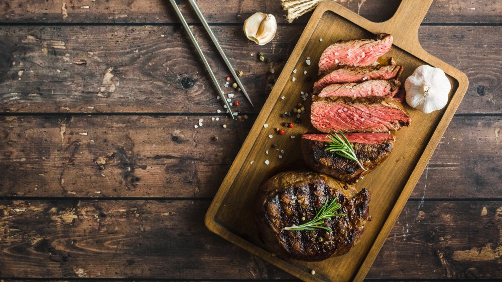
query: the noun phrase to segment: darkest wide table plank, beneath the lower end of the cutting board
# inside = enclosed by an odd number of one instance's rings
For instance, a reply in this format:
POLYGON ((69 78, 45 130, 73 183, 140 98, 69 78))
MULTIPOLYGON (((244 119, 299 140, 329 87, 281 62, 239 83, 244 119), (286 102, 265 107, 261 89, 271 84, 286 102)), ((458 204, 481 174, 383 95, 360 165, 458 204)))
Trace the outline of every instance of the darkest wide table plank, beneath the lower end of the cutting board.
MULTIPOLYGON (((0 201, 0 276, 291 278, 211 234, 208 204, 0 201)), ((418 204, 406 205, 367 278, 502 278, 502 202, 418 204)))

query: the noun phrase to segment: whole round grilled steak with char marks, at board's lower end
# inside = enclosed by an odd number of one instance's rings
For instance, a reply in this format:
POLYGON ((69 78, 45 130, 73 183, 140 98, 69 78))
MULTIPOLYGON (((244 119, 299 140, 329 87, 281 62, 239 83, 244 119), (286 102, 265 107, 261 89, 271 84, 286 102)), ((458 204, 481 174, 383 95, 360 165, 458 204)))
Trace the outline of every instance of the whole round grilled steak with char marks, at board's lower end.
POLYGON ((325 174, 310 171, 282 172, 261 187, 255 205, 260 238, 270 250, 282 257, 318 261, 348 252, 360 239, 364 224, 370 221, 369 191, 356 193, 354 187, 325 174), (347 215, 324 220, 332 231, 284 230, 315 216, 325 201, 341 204, 335 213, 347 215), (302 218, 305 217, 305 220, 302 218))

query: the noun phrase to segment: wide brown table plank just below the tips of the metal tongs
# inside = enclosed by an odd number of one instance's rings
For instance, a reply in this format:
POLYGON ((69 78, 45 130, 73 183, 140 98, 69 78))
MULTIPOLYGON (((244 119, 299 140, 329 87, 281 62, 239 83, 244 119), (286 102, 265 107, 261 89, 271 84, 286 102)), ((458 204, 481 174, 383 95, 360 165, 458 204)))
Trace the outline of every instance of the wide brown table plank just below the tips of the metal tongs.
MULTIPOLYGON (((212 197, 253 123, 219 118, 0 118, 0 196, 212 197)), ((412 197, 499 197, 501 127, 454 118, 412 197)))

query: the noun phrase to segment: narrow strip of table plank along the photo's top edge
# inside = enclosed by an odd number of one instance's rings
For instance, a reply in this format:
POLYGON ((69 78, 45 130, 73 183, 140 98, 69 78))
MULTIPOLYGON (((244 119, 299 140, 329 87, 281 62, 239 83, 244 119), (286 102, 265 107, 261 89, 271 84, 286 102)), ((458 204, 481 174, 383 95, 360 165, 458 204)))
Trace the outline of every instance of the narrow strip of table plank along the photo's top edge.
MULTIPOLYGON (((398 0, 347 1, 337 3, 359 13, 370 21, 382 22, 389 19, 397 9, 398 0)), ((255 12, 274 14, 283 19, 279 0, 224 0, 212 3, 197 3, 210 23, 242 23, 255 12)), ((193 11, 182 2, 182 12, 189 21, 196 21, 193 11)), ((177 22, 169 3, 155 0, 113 1, 71 1, 49 0, 33 2, 29 0, 4 1, 0 3, 2 22, 44 22, 44 23, 172 23, 177 22), (65 5, 63 4, 65 3, 65 5), (64 9, 63 9, 64 5, 64 9), (86 9, 85 7, 89 8, 86 9)), ((435 0, 431 6, 426 23, 500 23, 500 8, 497 0, 465 1, 435 0), (475 8, 475 9, 474 9, 475 8)), ((311 14, 297 20, 306 23, 311 14)))

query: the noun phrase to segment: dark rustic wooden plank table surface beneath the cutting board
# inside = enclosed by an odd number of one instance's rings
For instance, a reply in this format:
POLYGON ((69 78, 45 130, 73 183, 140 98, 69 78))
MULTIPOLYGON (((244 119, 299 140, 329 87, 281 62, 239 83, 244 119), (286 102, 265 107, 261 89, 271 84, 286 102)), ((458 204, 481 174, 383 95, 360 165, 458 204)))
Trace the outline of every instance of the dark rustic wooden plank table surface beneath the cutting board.
MULTIPOLYGON (((373 21, 399 5, 339 2, 373 21)), ((256 106, 234 101, 247 119, 216 114, 167 1, 0 2, 0 277, 294 278, 210 233, 203 217, 310 14, 284 24, 279 0, 198 3, 244 73, 256 106), (242 33, 255 12, 281 22, 265 46, 242 33), (271 62, 249 55, 259 52, 271 62)), ((470 85, 368 280, 502 279, 501 34, 498 0, 433 2, 420 42, 470 85)))

